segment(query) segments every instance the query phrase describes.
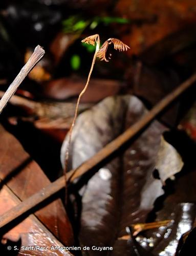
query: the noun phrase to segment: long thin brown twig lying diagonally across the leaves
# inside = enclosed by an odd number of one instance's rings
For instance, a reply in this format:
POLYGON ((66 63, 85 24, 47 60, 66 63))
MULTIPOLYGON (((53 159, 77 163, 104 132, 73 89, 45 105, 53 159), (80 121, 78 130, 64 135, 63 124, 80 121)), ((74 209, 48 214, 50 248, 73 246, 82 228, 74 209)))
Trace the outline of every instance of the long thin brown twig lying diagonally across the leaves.
MULTIPOLYGON (((108 143, 102 148, 97 154, 92 158, 85 161, 75 170, 71 170, 67 173, 66 177, 68 181, 73 181, 74 179, 80 177, 84 173, 88 172, 90 169, 95 167, 98 163, 103 161, 106 157, 114 153, 120 146, 125 142, 133 138, 139 131, 141 131, 147 124, 149 124, 158 114, 161 113, 173 100, 175 100, 180 94, 182 94, 187 88, 189 88, 196 81, 196 74, 193 74, 189 79, 183 82, 177 89, 168 94, 163 98, 158 104, 154 106, 148 113, 144 115, 138 122, 132 125, 124 133, 114 139, 112 142, 108 143)), ((57 193, 60 189, 64 187, 64 177, 60 177, 56 181, 52 182, 47 187, 42 188, 38 193, 24 200, 17 206, 5 212, 0 217, 0 227, 5 226, 17 217, 23 215, 26 211, 30 210, 34 206, 43 202, 50 196, 57 193)))

